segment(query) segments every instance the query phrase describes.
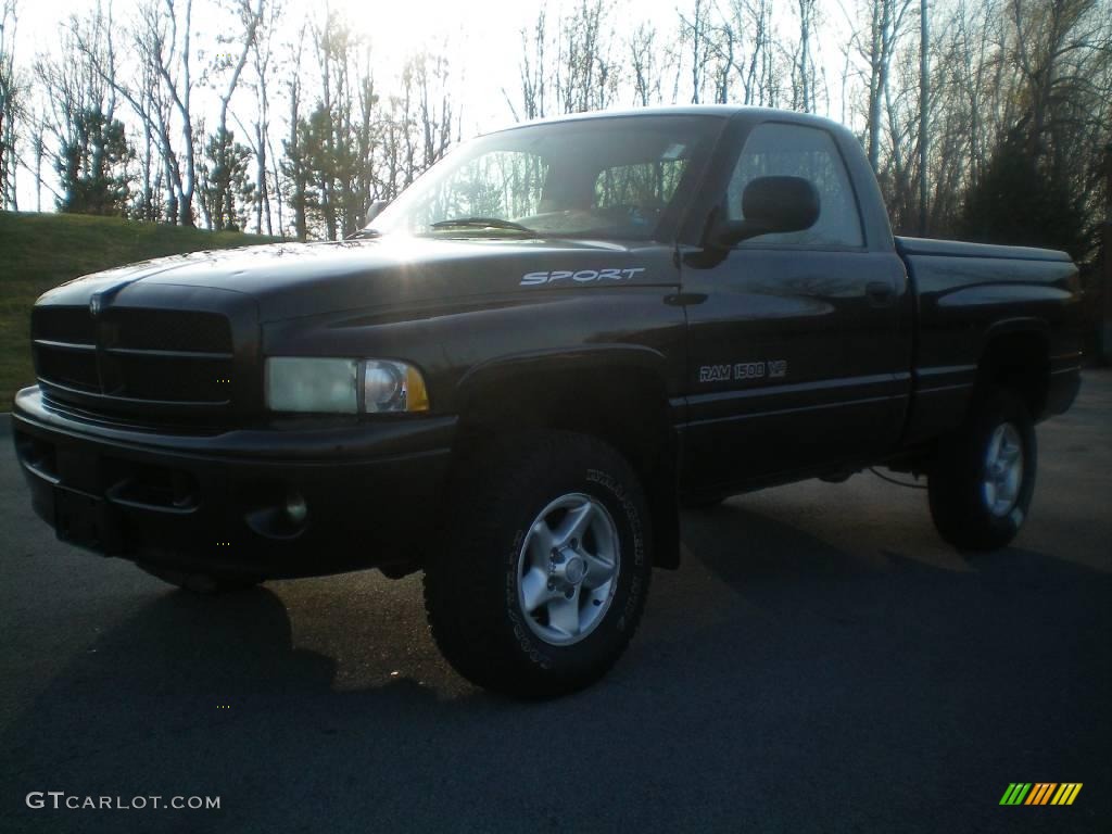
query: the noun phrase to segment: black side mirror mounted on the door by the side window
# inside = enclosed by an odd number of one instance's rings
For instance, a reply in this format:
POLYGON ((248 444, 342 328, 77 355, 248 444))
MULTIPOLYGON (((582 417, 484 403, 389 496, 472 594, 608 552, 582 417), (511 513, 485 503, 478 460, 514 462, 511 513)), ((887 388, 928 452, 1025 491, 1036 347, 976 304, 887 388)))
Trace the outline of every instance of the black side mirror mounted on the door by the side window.
POLYGON ((742 192, 745 219, 716 226, 711 242, 731 247, 757 235, 803 231, 815 225, 818 210, 818 191, 802 177, 757 177, 742 192))

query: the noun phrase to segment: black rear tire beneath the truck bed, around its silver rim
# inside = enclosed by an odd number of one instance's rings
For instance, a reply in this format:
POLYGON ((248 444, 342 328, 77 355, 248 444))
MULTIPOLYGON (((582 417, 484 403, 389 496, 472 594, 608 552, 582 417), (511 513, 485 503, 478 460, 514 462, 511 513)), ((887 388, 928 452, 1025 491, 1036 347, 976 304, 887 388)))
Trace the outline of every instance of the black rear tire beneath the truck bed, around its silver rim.
POLYGON ((1037 445, 1034 424, 1023 401, 1012 391, 992 388, 976 395, 962 427, 944 438, 927 479, 931 516, 946 542, 970 550, 994 550, 1020 532, 1035 488, 1037 445), (1021 450, 1022 476, 1011 489, 986 486, 994 437, 1011 426, 1021 450), (990 502, 996 497, 994 509, 990 502))

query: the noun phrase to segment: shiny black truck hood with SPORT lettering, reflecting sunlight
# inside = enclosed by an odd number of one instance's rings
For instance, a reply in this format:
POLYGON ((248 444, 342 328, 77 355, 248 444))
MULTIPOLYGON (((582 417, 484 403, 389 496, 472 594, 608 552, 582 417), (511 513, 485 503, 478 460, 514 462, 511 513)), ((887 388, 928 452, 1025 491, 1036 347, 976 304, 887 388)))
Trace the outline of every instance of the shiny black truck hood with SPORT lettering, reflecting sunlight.
POLYGON ((659 244, 388 236, 158 258, 70 281, 40 302, 83 306, 102 294, 127 304, 137 284, 212 288, 252 297, 265 322, 546 288, 677 282, 671 248, 659 244))

